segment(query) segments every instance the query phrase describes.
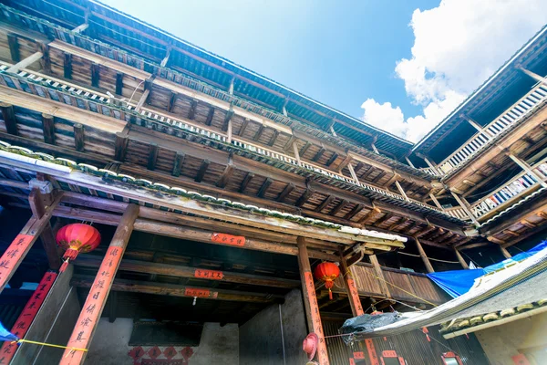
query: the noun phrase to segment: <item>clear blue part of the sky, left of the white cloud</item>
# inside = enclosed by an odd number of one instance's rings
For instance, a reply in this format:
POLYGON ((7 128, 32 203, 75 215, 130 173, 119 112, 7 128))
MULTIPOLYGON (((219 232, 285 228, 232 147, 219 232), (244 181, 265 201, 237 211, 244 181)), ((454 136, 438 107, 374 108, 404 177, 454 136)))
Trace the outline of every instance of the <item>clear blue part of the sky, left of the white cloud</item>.
POLYGON ((397 59, 410 56, 414 9, 439 5, 439 0, 104 2, 355 117, 362 116, 366 98, 418 112, 394 68, 397 59))

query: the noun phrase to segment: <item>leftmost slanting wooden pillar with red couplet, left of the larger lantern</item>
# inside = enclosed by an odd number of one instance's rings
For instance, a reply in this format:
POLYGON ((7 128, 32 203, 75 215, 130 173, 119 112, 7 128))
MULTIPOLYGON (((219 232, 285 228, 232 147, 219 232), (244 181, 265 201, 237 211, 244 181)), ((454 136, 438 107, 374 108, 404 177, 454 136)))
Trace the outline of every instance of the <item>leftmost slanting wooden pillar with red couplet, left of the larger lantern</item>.
POLYGON ((21 265, 38 236, 44 231, 46 225, 49 224, 53 209, 61 200, 61 196, 62 194, 59 193, 57 198, 45 208, 44 214, 41 217, 33 214, 19 235, 12 241, 12 244, 7 247, 4 255, 0 257, 0 292, 4 290, 5 285, 15 274, 15 270, 21 265))

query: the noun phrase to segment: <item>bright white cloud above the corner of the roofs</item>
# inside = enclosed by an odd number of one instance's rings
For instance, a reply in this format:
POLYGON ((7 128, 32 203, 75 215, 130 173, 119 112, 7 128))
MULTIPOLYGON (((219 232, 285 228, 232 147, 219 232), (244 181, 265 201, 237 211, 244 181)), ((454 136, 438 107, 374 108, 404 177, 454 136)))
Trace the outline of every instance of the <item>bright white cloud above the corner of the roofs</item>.
POLYGON ((418 141, 545 23, 544 0, 442 0, 433 9, 415 10, 412 57, 399 60, 395 72, 422 115, 401 122, 398 107, 367 99, 364 119, 418 141), (394 119, 378 116, 379 110, 394 119))

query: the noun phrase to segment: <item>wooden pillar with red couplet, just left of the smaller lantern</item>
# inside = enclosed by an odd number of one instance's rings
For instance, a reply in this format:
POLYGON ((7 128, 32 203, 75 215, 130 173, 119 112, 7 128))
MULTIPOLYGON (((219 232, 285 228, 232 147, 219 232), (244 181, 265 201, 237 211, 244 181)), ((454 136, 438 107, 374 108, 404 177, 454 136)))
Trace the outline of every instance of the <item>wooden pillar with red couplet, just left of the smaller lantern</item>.
POLYGON ((305 317, 308 329, 315 332, 319 338, 319 343, 317 344, 317 360, 319 360, 319 365, 329 365, 323 325, 321 324, 321 316, 319 315, 317 297, 315 297, 314 276, 312 275, 312 267, 310 266, 310 259, 308 257, 304 237, 298 237, 297 245, 298 266, 300 266, 300 279, 302 280, 305 317))

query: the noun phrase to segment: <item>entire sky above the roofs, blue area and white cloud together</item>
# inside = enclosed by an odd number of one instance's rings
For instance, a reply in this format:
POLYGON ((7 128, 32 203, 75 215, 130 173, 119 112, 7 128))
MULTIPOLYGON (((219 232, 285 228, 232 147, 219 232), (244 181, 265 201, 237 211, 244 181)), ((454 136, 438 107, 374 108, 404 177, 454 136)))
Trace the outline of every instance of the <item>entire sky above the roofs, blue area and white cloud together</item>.
POLYGON ((547 23, 544 0, 102 0, 409 141, 547 23))

